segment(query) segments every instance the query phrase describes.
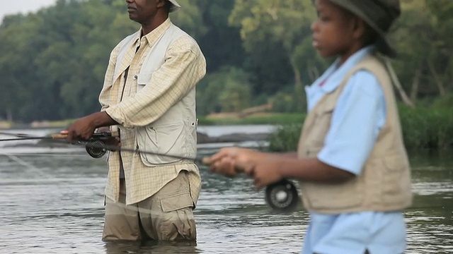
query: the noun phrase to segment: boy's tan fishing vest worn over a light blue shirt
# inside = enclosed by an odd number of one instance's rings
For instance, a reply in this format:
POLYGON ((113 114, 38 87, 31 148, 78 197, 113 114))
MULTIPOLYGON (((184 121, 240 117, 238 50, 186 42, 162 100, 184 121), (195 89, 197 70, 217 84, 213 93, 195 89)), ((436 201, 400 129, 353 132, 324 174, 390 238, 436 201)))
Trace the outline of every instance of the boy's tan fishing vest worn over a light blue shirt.
POLYGON ((316 157, 324 146, 338 97, 350 77, 364 69, 377 77, 384 90, 385 125, 359 176, 345 183, 299 181, 304 207, 310 212, 394 211, 403 210, 412 203, 411 171, 403 145, 394 90, 386 68, 376 56, 367 56, 360 61, 345 75, 336 90, 324 95, 310 111, 302 128, 297 155, 299 159, 316 157))

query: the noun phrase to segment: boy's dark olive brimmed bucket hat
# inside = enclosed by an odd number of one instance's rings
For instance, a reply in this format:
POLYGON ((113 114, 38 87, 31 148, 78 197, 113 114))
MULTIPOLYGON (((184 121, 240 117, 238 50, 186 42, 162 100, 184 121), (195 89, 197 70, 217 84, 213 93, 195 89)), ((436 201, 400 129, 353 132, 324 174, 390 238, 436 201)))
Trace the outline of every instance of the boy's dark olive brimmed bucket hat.
POLYGON ((377 47, 382 54, 396 56, 387 32, 401 14, 399 0, 329 0, 362 18, 378 34, 377 47))

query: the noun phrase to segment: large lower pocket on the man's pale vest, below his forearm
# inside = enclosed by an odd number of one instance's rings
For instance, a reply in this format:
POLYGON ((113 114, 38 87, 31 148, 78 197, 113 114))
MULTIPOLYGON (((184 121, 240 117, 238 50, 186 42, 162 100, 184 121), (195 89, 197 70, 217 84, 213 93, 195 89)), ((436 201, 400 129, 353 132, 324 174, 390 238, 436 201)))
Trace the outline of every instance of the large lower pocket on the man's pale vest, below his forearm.
POLYGON ((185 137, 183 131, 183 123, 146 126, 137 131, 139 150, 156 153, 154 155, 140 153, 142 162, 149 167, 182 160, 178 157, 186 156, 185 140, 187 140, 187 137, 185 137))

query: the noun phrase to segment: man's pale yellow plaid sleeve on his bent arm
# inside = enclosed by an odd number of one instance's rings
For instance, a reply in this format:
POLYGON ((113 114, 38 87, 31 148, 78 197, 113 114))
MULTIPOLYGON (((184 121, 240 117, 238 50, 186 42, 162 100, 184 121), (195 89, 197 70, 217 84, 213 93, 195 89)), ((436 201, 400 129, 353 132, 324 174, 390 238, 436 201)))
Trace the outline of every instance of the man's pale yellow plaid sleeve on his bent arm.
POLYGON ((181 37, 168 48, 165 63, 151 83, 105 111, 125 128, 147 126, 193 90, 206 73, 205 57, 190 37, 181 37))

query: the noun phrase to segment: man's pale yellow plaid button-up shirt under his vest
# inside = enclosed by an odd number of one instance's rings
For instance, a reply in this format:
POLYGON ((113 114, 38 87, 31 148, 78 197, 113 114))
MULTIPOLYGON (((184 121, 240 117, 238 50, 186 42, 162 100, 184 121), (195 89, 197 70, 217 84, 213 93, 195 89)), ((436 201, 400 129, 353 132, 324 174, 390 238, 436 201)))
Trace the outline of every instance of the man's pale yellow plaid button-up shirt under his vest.
MULTIPOLYGON (((103 90, 99 95, 102 110, 120 123, 121 147, 135 148, 137 126, 147 126, 159 119, 176 104, 180 98, 195 89, 195 85, 206 73, 206 61, 195 40, 188 35, 173 41, 165 54, 165 63, 155 71, 146 92, 137 92, 137 75, 151 47, 171 25, 168 18, 158 28, 141 37, 141 30, 132 35, 132 43, 120 63, 118 55, 122 43, 110 54, 105 73, 103 90), (120 70, 118 74, 118 71, 120 70), (128 70, 128 71, 126 71, 128 70), (125 77, 127 75, 127 77, 125 77)), ((108 181, 105 195, 113 200, 119 199, 120 161, 125 171, 126 203, 139 202, 159 191, 166 183, 178 176, 181 170, 189 172, 190 194, 197 202, 201 188, 200 172, 192 162, 176 165, 147 167, 136 152, 110 152, 108 157, 108 181), (121 160, 120 160, 121 159, 121 160)))

